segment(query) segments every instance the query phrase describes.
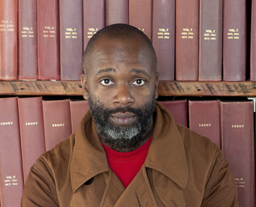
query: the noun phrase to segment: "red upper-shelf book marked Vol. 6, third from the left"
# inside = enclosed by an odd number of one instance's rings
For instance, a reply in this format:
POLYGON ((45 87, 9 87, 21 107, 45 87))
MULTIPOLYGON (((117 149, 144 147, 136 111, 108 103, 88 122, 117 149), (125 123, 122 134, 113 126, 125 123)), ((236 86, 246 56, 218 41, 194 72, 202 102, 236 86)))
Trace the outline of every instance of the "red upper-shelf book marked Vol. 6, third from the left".
POLYGON ((60 79, 59 0, 38 0, 38 78, 60 79))

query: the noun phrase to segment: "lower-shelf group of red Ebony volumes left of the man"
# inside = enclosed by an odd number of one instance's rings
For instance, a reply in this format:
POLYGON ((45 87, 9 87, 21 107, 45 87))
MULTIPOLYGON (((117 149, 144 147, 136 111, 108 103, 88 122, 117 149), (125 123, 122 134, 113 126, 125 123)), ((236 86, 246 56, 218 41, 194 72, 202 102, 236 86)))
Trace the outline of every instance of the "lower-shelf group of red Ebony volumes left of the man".
POLYGON ((20 206, 30 167, 76 132, 88 108, 85 100, 0 98, 0 206, 20 206))

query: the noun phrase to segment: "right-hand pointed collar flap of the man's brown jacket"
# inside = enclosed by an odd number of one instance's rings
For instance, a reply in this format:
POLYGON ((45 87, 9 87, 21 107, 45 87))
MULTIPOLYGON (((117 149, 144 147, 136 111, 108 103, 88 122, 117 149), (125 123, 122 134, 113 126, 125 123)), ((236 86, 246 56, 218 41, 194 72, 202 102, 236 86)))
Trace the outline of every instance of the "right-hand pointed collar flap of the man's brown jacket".
POLYGON ((145 167, 155 169, 185 189, 188 182, 187 158, 173 115, 156 102, 156 121, 145 167))

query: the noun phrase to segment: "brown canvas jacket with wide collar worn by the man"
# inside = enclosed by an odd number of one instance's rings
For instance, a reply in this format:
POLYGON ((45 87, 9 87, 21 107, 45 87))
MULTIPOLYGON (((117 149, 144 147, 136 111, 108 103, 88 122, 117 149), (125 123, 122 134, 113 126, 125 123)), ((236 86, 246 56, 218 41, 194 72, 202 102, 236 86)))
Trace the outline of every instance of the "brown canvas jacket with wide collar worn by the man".
POLYGON ((88 111, 76 134, 31 167, 21 206, 238 207, 223 152, 156 105, 147 158, 127 188, 109 168, 88 111))

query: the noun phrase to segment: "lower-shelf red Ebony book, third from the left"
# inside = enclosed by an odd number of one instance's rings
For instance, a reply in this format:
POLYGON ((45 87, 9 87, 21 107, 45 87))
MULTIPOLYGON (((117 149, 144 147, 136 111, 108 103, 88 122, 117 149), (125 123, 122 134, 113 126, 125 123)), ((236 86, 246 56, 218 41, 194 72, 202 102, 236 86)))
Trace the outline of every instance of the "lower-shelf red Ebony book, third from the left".
POLYGON ((69 99, 43 101, 46 151, 68 138, 72 133, 69 99))

